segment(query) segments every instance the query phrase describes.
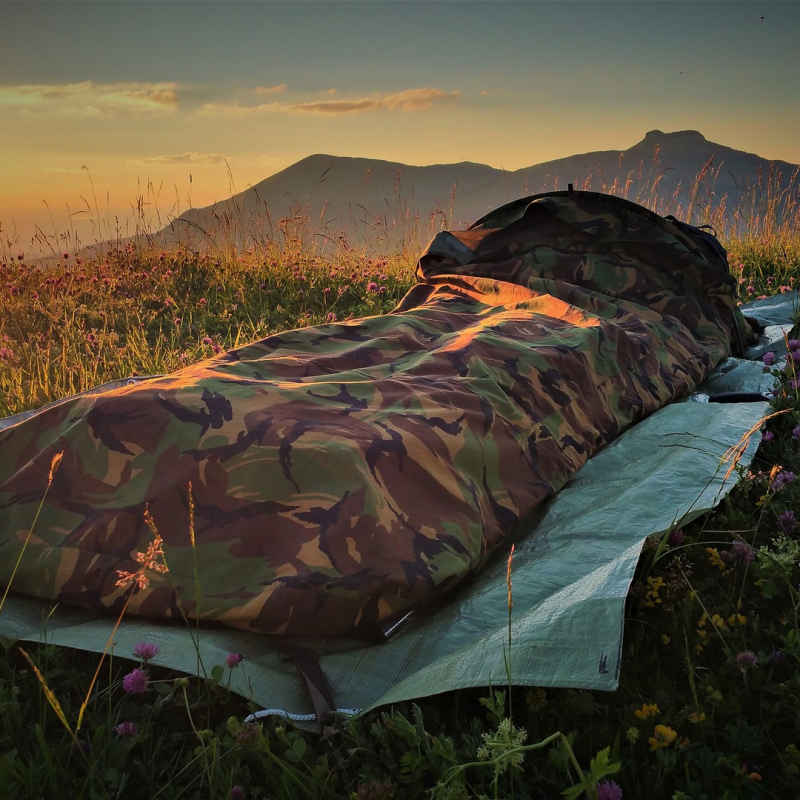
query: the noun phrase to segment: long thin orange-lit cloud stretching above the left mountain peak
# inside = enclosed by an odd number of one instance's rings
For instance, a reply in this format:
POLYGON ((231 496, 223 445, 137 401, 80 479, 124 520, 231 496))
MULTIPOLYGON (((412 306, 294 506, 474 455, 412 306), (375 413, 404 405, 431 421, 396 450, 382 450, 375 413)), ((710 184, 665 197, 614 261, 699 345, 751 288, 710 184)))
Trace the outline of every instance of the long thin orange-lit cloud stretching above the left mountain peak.
MULTIPOLYGON (((335 90, 332 90, 335 91, 335 90)), ((425 111, 435 104, 456 100, 460 92, 445 92, 428 87, 406 89, 402 92, 375 94, 370 97, 341 100, 313 100, 305 103, 286 103, 273 100, 256 106, 230 103, 206 103, 199 113, 203 116, 250 117, 259 114, 357 114, 386 109, 389 111, 425 111)))

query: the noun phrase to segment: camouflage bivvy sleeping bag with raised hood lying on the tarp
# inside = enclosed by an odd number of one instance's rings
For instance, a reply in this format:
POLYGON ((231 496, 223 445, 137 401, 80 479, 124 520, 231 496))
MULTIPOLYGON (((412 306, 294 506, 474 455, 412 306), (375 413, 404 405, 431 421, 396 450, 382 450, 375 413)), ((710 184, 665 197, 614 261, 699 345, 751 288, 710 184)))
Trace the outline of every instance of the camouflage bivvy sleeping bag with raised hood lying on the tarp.
POLYGON ((380 631, 730 352, 726 266, 686 226, 591 192, 439 234, 391 314, 0 431, 0 583, 27 541, 25 594, 267 634, 380 631))

